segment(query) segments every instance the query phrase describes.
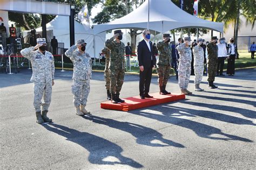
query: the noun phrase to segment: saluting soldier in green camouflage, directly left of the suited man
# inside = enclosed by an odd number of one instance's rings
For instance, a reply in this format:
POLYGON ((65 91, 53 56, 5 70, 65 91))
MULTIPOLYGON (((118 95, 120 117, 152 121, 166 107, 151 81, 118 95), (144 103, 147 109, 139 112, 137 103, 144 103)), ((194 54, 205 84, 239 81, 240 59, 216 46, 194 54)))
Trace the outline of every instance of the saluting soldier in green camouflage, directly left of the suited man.
POLYGON ((123 39, 121 30, 114 31, 114 36, 105 42, 107 48, 111 51, 110 56, 110 93, 113 103, 123 103, 119 98, 120 91, 124 83, 125 74, 125 45, 120 40, 123 39))

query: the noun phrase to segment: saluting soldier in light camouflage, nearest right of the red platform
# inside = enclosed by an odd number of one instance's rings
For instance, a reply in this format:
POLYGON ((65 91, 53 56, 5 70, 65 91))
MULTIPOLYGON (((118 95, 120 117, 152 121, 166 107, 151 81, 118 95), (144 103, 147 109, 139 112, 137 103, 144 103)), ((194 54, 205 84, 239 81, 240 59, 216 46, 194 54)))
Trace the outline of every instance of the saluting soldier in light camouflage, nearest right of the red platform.
POLYGON ((179 88, 181 94, 190 95, 191 91, 187 90, 188 83, 190 82, 191 74, 191 61, 192 61, 192 52, 191 52, 191 39, 190 37, 184 38, 184 43, 176 47, 179 52, 179 88))

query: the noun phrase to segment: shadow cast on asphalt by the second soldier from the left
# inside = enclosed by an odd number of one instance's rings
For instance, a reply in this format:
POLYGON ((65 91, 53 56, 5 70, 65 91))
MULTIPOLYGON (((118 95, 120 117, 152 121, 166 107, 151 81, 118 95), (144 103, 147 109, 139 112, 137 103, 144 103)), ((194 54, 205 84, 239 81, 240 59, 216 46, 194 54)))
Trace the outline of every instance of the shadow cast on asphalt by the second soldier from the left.
POLYGON ((109 126, 110 128, 119 129, 125 131, 127 133, 132 134, 132 136, 136 137, 136 142, 141 145, 147 146, 174 146, 174 147, 184 147, 183 145, 171 141, 169 139, 163 138, 163 134, 159 133, 156 130, 151 128, 147 128, 145 126, 129 123, 129 122, 119 122, 113 119, 102 118, 98 116, 82 116, 83 118, 90 120, 94 123, 103 124, 109 126), (163 144, 153 143, 154 140, 161 141, 163 144))

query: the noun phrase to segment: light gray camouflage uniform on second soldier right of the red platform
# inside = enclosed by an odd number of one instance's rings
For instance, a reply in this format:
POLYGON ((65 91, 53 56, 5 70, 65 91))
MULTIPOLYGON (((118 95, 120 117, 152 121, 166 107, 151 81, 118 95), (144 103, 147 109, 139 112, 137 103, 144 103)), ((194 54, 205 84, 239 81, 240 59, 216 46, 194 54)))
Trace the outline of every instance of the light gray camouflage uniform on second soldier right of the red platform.
POLYGON ((204 74, 204 49, 201 46, 193 48, 194 54, 194 84, 200 84, 204 74))

